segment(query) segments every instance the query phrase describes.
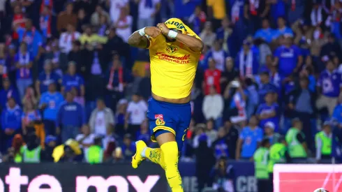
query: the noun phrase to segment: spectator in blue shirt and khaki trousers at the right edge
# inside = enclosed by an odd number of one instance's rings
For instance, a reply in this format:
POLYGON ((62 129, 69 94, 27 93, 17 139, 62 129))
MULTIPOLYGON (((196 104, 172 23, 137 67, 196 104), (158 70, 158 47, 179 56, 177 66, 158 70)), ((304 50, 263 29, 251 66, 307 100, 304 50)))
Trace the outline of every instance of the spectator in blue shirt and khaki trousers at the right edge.
POLYGON ((320 73, 320 78, 317 82, 318 99, 316 107, 318 110, 327 108, 329 115, 332 115, 337 104, 337 98, 340 94, 341 75, 336 71, 336 66, 329 60, 327 61, 327 69, 320 73))

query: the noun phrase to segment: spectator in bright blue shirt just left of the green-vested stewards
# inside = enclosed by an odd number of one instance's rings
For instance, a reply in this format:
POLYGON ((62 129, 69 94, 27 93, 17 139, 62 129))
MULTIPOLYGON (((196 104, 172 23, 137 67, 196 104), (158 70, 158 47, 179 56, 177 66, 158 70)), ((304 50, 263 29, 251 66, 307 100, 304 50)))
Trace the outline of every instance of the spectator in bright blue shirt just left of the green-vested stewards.
POLYGON ((249 119, 248 126, 242 128, 239 135, 235 158, 237 160, 242 158, 251 161, 255 150, 262 141, 262 135, 262 129, 258 127, 258 118, 252 116, 249 119))

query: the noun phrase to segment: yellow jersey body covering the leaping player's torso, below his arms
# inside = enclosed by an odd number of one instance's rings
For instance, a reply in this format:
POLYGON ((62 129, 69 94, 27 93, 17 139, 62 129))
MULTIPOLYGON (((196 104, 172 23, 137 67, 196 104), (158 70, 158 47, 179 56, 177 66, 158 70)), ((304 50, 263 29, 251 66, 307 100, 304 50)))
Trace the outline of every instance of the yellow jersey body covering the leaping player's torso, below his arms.
POLYGON ((167 42, 163 35, 149 37, 152 93, 173 99, 189 96, 200 54, 179 41, 167 42))

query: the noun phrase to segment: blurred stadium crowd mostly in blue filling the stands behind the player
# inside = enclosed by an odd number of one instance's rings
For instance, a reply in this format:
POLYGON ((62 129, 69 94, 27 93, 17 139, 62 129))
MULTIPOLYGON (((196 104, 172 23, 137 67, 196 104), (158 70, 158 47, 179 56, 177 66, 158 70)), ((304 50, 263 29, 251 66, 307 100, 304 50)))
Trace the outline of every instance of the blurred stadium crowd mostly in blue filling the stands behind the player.
POLYGON ((126 41, 170 17, 205 43, 181 156, 202 188, 229 178, 227 159, 255 161, 261 180, 265 153, 341 160, 342 1, 0 0, 2 161, 117 162, 155 145, 149 53, 126 41))

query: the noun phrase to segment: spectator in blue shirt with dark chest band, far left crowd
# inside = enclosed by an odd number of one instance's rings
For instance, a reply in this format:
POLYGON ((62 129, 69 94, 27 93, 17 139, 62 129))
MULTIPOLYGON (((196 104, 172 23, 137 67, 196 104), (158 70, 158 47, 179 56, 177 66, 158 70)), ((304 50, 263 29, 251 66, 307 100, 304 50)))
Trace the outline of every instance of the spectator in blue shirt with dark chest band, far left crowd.
POLYGON ((33 65, 34 57, 27 50, 27 44, 20 45, 20 51, 15 57, 17 67, 17 89, 22 98, 25 94, 25 89, 32 84, 31 68, 33 65))

